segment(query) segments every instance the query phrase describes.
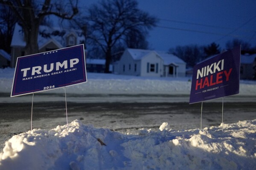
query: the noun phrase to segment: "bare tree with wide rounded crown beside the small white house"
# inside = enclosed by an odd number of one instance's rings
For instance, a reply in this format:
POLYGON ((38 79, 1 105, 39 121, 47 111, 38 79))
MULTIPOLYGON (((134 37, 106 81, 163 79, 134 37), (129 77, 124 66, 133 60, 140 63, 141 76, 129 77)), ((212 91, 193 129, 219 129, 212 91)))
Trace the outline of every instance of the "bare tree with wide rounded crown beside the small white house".
POLYGON ((102 0, 88 10, 88 38, 99 46, 106 56, 105 72, 109 72, 112 48, 125 41, 132 31, 147 32, 156 24, 156 18, 138 9, 135 0, 102 0))

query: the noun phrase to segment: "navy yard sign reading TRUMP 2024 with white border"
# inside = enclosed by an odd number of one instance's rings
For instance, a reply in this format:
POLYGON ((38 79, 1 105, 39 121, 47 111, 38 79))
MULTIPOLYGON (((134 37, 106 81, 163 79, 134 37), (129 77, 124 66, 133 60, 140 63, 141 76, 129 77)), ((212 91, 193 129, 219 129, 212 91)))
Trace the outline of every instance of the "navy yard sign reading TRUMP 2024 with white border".
POLYGON ((84 46, 18 57, 11 97, 85 83, 84 46))

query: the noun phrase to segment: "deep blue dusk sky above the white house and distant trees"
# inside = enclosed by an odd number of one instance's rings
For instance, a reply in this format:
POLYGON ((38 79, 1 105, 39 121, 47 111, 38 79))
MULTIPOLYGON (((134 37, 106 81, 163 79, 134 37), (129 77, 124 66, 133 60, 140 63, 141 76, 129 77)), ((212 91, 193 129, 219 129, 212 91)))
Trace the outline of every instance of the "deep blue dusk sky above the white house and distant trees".
MULTIPOLYGON (((97 1, 83 3, 87 8, 97 1)), ((256 46, 255 0, 138 0, 138 7, 159 18, 147 38, 150 49, 212 42, 224 49, 234 38, 256 46)))

